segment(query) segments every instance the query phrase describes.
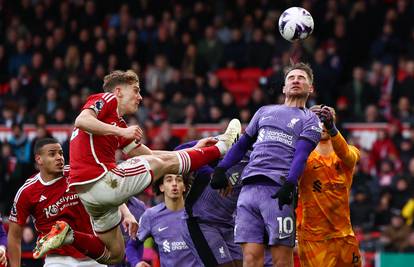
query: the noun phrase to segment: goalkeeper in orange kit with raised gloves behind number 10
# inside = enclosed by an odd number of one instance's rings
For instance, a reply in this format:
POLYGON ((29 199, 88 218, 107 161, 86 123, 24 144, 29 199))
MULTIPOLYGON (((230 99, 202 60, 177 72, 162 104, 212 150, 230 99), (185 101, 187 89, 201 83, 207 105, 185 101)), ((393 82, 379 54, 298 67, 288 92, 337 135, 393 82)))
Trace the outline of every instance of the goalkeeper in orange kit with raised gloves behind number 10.
POLYGON ((349 216, 352 174, 359 150, 335 127, 335 110, 311 108, 323 121, 321 141, 299 179, 298 241, 301 266, 361 266, 349 216))

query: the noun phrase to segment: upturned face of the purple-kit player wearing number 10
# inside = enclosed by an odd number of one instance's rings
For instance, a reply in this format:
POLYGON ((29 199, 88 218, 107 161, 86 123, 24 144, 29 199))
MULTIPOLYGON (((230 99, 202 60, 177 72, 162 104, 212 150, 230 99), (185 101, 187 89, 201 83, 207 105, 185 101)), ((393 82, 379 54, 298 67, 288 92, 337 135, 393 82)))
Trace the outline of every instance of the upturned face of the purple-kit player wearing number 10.
POLYGON ((308 97, 313 92, 313 86, 305 71, 291 70, 285 79, 283 93, 286 97, 308 97))

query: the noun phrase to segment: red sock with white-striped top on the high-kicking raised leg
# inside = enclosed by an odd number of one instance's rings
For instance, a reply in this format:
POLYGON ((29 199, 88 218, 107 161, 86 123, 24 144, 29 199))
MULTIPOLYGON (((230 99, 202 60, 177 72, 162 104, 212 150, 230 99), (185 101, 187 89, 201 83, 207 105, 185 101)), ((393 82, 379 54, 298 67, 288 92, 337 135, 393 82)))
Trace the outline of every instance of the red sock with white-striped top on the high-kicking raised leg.
POLYGON ((180 173, 187 173, 197 170, 221 156, 220 150, 216 146, 195 148, 187 151, 179 151, 180 173))

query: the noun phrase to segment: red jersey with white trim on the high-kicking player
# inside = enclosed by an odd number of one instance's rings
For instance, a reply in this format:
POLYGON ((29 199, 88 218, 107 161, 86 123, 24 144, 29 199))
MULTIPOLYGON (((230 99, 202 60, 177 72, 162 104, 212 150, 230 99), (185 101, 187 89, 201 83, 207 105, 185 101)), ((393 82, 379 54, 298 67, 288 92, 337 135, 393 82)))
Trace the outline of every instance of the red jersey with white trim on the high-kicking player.
MULTIPOLYGON (((89 96, 83 109, 92 109, 97 119, 126 128, 118 115, 118 101, 114 94, 101 93, 89 96)), ((114 135, 94 135, 79 128, 70 140, 70 186, 94 182, 116 167, 115 151, 131 144, 133 140, 114 135)))

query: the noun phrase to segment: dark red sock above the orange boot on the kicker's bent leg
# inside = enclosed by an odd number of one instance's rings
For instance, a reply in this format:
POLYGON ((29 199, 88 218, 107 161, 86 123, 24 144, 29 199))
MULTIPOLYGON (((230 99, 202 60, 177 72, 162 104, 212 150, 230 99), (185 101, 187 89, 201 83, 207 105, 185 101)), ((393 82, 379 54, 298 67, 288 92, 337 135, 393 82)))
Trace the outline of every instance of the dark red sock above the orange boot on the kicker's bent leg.
POLYGON ((73 231, 73 243, 71 245, 94 260, 101 257, 106 250, 99 237, 78 231, 73 231))

